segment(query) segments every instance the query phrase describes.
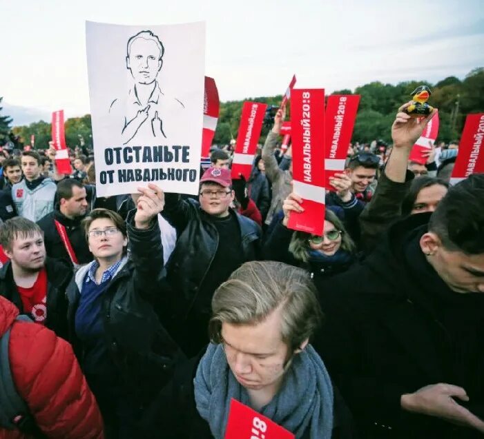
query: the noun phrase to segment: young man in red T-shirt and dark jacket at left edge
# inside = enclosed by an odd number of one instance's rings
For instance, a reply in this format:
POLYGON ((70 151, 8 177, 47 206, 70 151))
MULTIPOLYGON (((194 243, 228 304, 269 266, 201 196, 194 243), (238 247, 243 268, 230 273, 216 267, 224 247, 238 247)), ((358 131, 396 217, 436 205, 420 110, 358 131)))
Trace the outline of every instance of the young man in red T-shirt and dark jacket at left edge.
POLYGON ((66 338, 66 287, 72 270, 46 258, 41 228, 27 218, 9 219, 0 227, 0 245, 10 259, 0 270, 0 295, 35 322, 66 338))

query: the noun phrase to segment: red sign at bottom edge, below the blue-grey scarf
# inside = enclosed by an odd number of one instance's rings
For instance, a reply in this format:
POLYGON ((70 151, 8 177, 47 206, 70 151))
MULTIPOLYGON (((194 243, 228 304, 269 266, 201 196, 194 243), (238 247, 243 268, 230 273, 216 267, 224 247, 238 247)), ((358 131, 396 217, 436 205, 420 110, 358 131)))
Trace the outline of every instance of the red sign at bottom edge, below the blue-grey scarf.
POLYGON ((231 400, 225 439, 294 439, 296 436, 257 411, 231 400))

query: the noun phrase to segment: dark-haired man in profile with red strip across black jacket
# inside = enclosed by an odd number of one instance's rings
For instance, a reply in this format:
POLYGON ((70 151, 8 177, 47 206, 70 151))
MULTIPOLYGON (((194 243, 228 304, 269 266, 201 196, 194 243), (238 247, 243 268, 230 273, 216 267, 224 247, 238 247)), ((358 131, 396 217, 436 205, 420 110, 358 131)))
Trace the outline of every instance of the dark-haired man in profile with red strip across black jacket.
POLYGON ((81 221, 86 216, 86 188, 76 178, 57 185, 55 209, 38 221, 43 230, 47 256, 64 259, 77 267, 93 260, 81 221))

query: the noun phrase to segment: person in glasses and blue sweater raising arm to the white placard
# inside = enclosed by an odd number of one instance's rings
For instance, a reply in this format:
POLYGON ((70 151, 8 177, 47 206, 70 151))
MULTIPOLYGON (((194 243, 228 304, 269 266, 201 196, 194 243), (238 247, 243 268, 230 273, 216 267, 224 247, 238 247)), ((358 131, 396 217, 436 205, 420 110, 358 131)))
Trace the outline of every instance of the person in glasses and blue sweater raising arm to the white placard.
POLYGON ((153 308, 163 291, 157 215, 164 194, 153 184, 139 193, 126 223, 107 209, 84 219, 95 259, 77 271, 67 290, 70 342, 101 409, 107 439, 137 437, 143 407, 182 358, 153 308))

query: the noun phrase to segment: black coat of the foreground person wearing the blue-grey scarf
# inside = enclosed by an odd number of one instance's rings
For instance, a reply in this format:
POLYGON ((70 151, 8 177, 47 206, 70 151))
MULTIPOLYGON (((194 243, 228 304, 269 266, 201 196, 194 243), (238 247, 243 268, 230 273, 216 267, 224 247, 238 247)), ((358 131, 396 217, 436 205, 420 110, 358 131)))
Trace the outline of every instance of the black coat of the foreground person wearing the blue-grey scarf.
MULTIPOLYGON (((205 354, 203 349, 196 357, 180 364, 173 379, 159 393, 151 407, 146 410, 140 423, 140 436, 146 439, 213 439, 209 423, 200 416, 195 405, 193 380, 197 367, 205 354)), ((340 391, 333 386, 333 434, 332 439, 356 438, 354 422, 340 391)), ((301 439, 309 439, 310 431, 304 431, 301 439)))

